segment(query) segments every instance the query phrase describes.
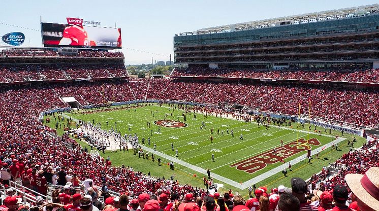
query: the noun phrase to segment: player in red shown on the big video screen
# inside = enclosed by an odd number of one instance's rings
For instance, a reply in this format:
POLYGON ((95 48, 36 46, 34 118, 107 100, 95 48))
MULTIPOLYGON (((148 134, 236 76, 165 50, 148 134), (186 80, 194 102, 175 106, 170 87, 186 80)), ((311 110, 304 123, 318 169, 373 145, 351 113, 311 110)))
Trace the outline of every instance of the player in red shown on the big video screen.
POLYGON ((63 38, 59 41, 59 45, 89 46, 96 44, 88 40, 88 34, 83 26, 70 25, 63 31, 63 38))

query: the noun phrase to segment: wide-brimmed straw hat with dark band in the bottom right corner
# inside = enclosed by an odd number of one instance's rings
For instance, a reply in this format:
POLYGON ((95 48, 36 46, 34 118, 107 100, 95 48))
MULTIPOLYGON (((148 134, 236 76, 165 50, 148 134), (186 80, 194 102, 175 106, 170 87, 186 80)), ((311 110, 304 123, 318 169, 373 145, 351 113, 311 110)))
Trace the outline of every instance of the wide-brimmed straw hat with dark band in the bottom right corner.
POLYGON ((345 180, 361 210, 379 210, 379 167, 371 167, 365 174, 349 173, 345 180))

